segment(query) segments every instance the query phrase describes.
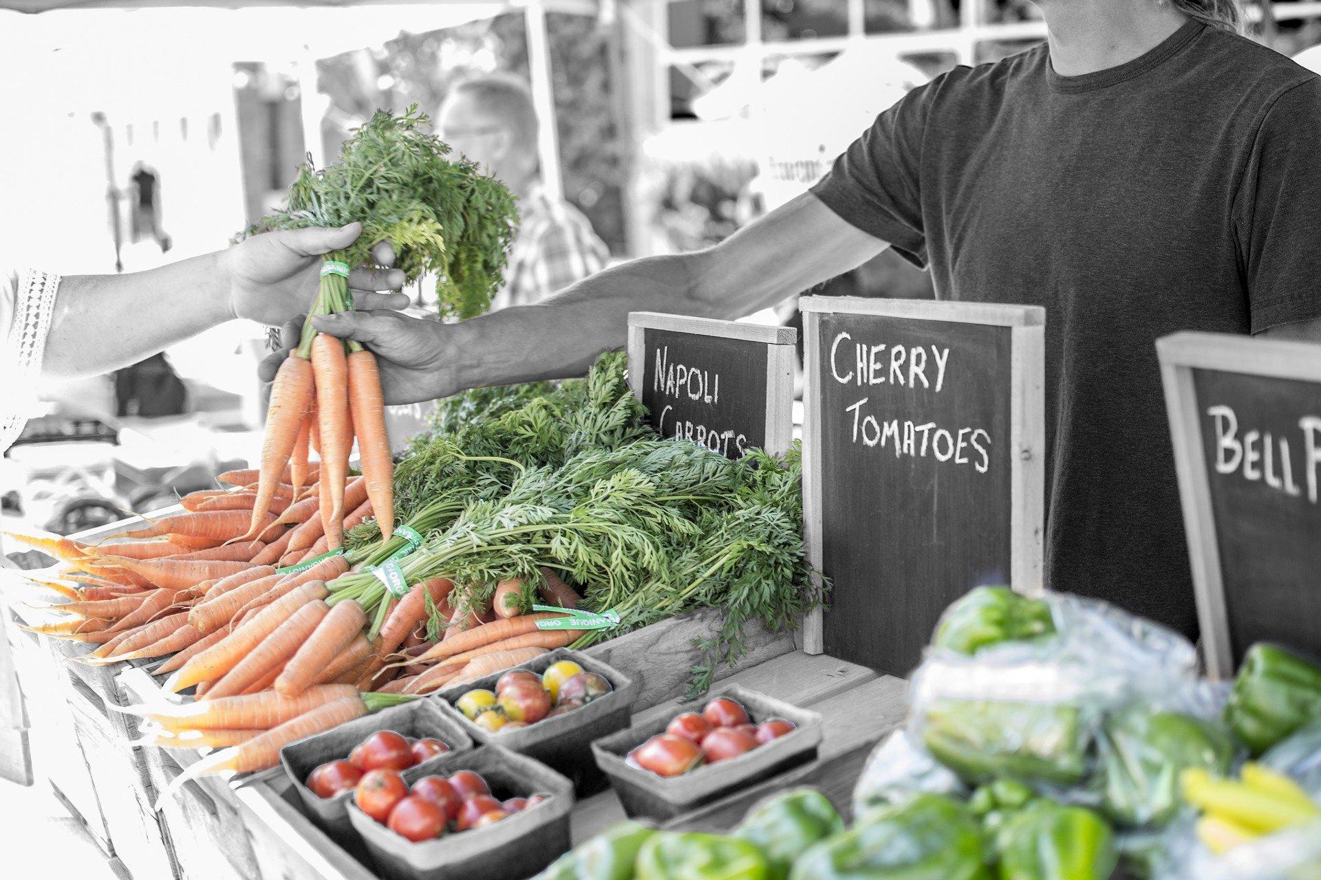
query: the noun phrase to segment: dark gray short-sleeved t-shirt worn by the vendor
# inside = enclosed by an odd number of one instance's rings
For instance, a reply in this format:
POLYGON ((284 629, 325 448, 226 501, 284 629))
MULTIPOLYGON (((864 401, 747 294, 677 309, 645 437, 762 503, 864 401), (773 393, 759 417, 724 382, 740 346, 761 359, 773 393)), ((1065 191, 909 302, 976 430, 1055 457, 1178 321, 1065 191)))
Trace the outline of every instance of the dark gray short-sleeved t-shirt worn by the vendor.
POLYGON ((914 90, 812 191, 942 299, 1045 306, 1046 586, 1194 633, 1155 342, 1321 317, 1321 78, 1197 22, 1083 77, 1040 46, 914 90))

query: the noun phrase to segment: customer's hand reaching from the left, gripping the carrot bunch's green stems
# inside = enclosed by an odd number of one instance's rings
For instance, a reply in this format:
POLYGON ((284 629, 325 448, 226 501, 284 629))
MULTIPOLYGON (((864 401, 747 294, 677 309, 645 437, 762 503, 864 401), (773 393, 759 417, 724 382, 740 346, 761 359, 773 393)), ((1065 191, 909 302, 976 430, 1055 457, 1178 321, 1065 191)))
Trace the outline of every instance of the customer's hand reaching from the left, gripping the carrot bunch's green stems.
MULTIPOLYGON (((221 253, 230 280, 230 311, 235 318, 279 326, 304 313, 317 296, 322 255, 343 248, 358 237, 362 226, 338 230, 306 228, 264 232, 221 253)), ((392 263, 386 249, 384 263, 392 263)), ((403 309, 408 297, 399 290, 404 276, 398 269, 354 269, 349 276, 358 309, 403 309)))

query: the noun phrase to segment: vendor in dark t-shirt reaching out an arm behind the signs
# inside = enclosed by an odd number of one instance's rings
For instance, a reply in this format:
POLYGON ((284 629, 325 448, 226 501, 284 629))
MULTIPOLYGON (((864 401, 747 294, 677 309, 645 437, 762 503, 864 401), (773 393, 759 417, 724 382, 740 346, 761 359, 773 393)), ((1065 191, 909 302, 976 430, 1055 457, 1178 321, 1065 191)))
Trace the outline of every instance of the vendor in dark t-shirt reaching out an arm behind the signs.
POLYGON ((1153 343, 1321 342, 1321 78, 1238 36, 1232 0, 1040 7, 1048 44, 911 91, 811 194, 708 251, 461 325, 317 327, 384 358, 390 402, 431 400, 581 373, 629 311, 744 315, 893 247, 938 298, 1046 309, 1046 586, 1193 633, 1153 343))

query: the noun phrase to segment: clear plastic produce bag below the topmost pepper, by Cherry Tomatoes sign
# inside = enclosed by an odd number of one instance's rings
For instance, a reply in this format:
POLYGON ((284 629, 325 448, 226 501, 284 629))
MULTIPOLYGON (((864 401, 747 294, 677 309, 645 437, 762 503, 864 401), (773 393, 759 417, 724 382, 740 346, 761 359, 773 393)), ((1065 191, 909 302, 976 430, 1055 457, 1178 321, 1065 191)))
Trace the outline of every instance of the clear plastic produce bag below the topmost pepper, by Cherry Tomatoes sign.
MULTIPOLYGON (((975 602, 983 600, 970 594, 951 606, 942 625, 975 602)), ((1173 631, 1103 602, 1061 594, 1041 602, 1054 635, 1029 628, 1028 640, 972 639, 971 656, 933 646, 911 679, 908 730, 964 782, 1012 777, 1067 798, 1091 773, 1104 714, 1153 690, 1194 686, 1197 653, 1173 631)))

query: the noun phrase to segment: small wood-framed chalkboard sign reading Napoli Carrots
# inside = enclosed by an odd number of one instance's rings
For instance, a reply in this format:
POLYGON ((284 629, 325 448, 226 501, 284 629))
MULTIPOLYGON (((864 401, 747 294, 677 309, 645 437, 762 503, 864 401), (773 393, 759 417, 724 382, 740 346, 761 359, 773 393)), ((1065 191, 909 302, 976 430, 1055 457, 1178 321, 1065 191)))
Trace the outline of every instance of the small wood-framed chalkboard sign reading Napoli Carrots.
POLYGON ((793 441, 793 327, 629 314, 629 381, 651 426, 729 458, 793 441))

